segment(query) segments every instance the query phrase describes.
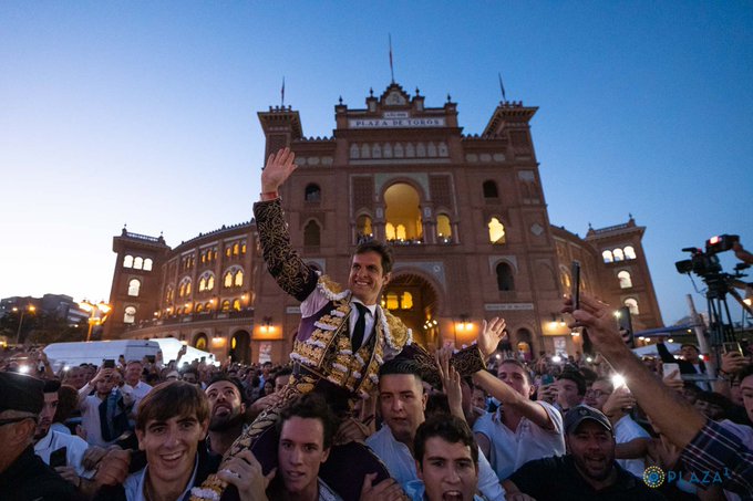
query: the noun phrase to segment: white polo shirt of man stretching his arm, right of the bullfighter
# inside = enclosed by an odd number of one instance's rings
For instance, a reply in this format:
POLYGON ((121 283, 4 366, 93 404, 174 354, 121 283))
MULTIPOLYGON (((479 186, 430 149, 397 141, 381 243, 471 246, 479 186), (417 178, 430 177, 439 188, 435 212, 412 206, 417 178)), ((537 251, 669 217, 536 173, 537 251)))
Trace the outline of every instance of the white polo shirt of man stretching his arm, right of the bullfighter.
POLYGON ((535 404, 544 407, 554 429, 546 430, 523 417, 517 429, 512 430, 502 422, 502 407, 496 413, 479 417, 473 426, 475 434, 483 435, 489 441, 488 460, 499 480, 506 480, 528 461, 565 453, 563 415, 546 401, 535 404))

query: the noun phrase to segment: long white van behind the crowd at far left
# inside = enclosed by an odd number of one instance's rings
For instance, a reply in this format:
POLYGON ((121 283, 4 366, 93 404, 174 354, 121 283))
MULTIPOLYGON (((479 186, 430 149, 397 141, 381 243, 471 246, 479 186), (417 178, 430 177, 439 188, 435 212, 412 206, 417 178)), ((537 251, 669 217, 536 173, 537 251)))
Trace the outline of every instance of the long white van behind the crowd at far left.
POLYGON ((154 341, 112 340, 89 341, 81 343, 53 343, 44 347, 44 353, 54 372, 64 366, 94 364, 97 367, 105 359, 117 363, 121 355, 125 361, 141 361, 145 356, 156 356, 159 345, 154 341))

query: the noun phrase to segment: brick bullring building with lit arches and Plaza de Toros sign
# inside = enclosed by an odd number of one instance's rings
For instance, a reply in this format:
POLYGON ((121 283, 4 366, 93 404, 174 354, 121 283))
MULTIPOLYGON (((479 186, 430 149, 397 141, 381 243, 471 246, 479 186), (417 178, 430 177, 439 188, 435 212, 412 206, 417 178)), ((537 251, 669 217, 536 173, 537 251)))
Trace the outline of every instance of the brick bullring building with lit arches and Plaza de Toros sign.
MULTIPOLYGON (((331 137, 305 137, 291 107, 258 116, 265 158, 289 146, 299 165, 280 190, 293 247, 345 284, 359 241, 392 242, 382 305, 419 343, 468 344, 482 319, 504 316, 514 349, 575 354, 579 336, 558 313, 574 259, 584 290, 629 306, 636 330, 661 326, 643 227, 630 218, 580 238, 549 222, 536 112, 503 102, 481 134, 463 134, 450 96, 427 107, 417 90, 392 83, 363 108, 340 101, 331 137)), ((254 221, 175 248, 124 229, 113 250, 105 338, 173 336, 220 359, 287 359, 298 303, 267 273, 254 221)))

